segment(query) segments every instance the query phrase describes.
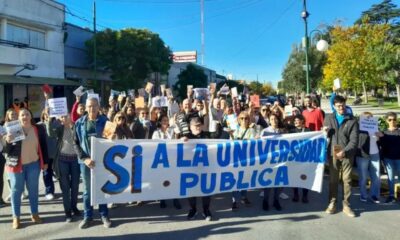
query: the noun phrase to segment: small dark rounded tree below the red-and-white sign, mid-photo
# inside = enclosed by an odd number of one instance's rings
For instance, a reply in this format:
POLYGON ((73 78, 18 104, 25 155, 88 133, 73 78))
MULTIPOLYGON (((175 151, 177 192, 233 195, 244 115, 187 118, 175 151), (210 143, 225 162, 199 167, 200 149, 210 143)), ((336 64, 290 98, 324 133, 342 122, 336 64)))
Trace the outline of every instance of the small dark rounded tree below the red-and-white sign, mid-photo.
POLYGON ((193 85, 193 88, 206 88, 208 84, 203 69, 194 64, 187 65, 186 69, 178 75, 178 79, 174 85, 174 90, 178 92, 180 99, 187 97, 187 85, 193 85))

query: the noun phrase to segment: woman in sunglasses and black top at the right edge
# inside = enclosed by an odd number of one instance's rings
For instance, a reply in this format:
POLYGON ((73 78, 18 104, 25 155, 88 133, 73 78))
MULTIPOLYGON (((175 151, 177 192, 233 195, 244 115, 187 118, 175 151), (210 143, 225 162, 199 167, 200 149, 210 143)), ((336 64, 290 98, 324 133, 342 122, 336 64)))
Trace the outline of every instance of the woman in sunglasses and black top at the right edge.
POLYGON ((395 177, 400 177, 400 129, 397 125, 397 114, 386 114, 387 129, 379 134, 383 162, 388 173, 389 196, 386 203, 396 202, 394 196, 395 177))

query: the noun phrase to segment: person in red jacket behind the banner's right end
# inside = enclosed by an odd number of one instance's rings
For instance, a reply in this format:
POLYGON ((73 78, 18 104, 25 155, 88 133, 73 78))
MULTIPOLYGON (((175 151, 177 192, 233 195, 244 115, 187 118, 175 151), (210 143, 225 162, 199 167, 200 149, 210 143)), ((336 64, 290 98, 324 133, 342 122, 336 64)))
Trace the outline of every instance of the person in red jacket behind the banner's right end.
POLYGON ((313 107, 310 96, 304 98, 303 117, 306 120, 305 127, 311 131, 320 131, 324 124, 324 116, 320 109, 313 107))

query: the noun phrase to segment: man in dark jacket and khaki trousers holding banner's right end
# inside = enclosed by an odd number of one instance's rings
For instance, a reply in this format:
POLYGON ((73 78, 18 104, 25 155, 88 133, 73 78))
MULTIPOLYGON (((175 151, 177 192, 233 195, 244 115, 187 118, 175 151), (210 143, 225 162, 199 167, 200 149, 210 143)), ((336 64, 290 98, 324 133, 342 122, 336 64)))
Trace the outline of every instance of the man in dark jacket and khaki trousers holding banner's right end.
POLYGON ((329 205, 326 213, 334 214, 338 198, 339 176, 343 180, 343 212, 355 217, 350 207, 351 171, 358 147, 358 122, 346 113, 346 100, 336 96, 333 100, 335 112, 327 115, 324 129, 328 137, 329 160, 329 205))

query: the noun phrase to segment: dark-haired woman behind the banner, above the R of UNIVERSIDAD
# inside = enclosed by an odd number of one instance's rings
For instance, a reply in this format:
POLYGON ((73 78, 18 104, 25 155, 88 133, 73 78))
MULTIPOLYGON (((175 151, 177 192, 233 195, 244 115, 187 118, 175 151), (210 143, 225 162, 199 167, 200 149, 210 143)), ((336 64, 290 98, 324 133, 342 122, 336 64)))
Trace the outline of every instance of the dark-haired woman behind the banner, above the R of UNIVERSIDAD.
MULTIPOLYGON (((283 124, 281 122, 280 116, 278 116, 276 113, 270 114, 269 123, 270 123, 270 126, 261 131, 260 137, 279 135, 279 134, 286 132, 286 130, 282 128, 283 124)), ((264 211, 269 210, 268 202, 269 202, 270 190, 271 190, 271 188, 264 189, 264 200, 263 200, 263 204, 262 204, 262 208, 264 211)), ((273 200, 272 206, 274 206, 274 208, 278 211, 282 210, 282 206, 279 203, 280 192, 281 192, 281 188, 274 188, 274 200, 273 200)))

